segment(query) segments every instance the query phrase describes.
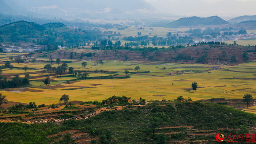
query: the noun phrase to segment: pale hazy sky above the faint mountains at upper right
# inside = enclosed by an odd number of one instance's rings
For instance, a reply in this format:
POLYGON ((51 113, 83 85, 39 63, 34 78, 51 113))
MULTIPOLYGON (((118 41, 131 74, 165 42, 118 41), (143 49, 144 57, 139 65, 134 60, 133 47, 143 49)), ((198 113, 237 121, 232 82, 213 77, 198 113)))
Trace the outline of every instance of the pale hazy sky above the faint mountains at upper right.
POLYGON ((229 19, 256 15, 256 0, 145 0, 158 11, 180 15, 207 17, 218 15, 229 19))

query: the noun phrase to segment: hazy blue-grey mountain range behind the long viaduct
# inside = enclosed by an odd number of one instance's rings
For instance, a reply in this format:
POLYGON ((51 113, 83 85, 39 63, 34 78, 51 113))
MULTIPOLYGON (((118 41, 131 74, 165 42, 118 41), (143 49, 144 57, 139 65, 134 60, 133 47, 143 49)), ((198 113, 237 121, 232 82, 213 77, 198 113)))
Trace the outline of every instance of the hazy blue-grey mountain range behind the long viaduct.
POLYGON ((83 16, 81 14, 90 17, 88 14, 93 13, 112 15, 158 13, 151 4, 144 0, 1 0, 0 5, 7 7, 9 11, 11 11, 10 7, 12 5, 18 5, 18 7, 33 14, 59 17, 78 15, 81 17, 83 16))

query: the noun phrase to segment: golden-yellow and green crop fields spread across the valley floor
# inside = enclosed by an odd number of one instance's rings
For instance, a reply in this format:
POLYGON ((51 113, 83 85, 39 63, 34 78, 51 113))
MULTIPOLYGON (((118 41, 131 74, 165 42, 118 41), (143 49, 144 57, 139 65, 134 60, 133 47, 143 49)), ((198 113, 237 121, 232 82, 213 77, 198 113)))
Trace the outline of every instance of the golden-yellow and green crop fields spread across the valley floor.
MULTIPOLYGON (((61 95, 69 95, 70 101, 102 101, 110 96, 128 96, 132 99, 144 98, 146 100, 173 100, 182 95, 184 98, 192 98, 193 101, 200 99, 225 98, 241 99, 245 94, 256 93, 256 68, 255 61, 236 65, 202 65, 202 64, 159 64, 152 62, 128 62, 128 61, 104 61, 102 66, 97 66, 95 61, 87 61, 87 66, 81 66, 82 61, 68 63, 69 67, 74 67, 76 71, 90 71, 88 77, 108 76, 118 74, 125 76, 127 70, 131 77, 128 79, 87 79, 77 80, 68 73, 57 77, 42 69, 49 62, 35 62, 29 64, 14 63, 15 69, 3 69, 3 76, 18 74, 20 77, 25 75, 22 69, 25 65, 29 68, 38 70, 30 74, 31 87, 18 88, 10 91, 1 91, 7 95, 9 101, 29 103, 35 102, 37 105, 59 103, 61 95), (96 66, 95 66, 96 65, 96 66), (139 66, 138 73, 134 68, 139 66), (165 67, 165 69, 164 69, 165 67), (99 72, 100 70, 104 72, 99 72), (96 72, 97 70, 97 72, 96 72), (148 73, 140 73, 146 72, 148 73), (109 73, 111 72, 111 73, 109 73), (133 72, 133 73, 131 73, 133 72), (43 86, 44 80, 49 77, 49 86, 43 86), (71 80, 70 83, 60 81, 71 80), (197 82, 199 88, 193 92, 191 83, 197 82), (79 89, 81 88, 81 89, 79 89), (23 91, 23 92, 22 92, 23 91)), ((52 67, 58 64, 53 62, 52 67)), ((254 103, 252 103, 253 105, 254 103)))

